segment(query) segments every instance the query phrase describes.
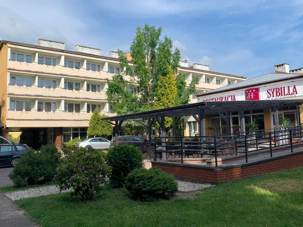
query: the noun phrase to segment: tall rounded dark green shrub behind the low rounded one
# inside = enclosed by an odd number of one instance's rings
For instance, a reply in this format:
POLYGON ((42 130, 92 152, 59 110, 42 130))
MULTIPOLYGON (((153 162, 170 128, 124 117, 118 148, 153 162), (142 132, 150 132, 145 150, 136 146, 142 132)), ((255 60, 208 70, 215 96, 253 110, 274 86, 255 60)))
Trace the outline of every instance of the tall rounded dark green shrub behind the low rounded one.
POLYGON ((142 151, 133 145, 120 144, 110 148, 105 156, 106 163, 112 168, 110 185, 114 188, 123 187, 128 173, 144 167, 143 159, 142 151))

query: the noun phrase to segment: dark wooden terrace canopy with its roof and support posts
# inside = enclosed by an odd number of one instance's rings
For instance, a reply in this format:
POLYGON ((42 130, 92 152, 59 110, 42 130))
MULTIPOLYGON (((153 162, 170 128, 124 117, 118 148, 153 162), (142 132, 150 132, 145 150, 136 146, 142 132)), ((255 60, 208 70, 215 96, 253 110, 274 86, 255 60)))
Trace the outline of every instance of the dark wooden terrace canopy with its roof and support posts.
MULTIPOLYGON (((207 101, 193 104, 186 104, 175 107, 149 110, 138 113, 129 113, 114 117, 102 118, 102 120, 115 121, 115 144, 118 144, 119 130, 124 120, 139 119, 148 120, 148 138, 151 138, 151 125, 156 120, 161 127, 161 137, 165 137, 164 117, 173 117, 174 126, 182 116, 193 116, 199 125, 199 136, 205 136, 205 115, 220 114, 226 120, 229 112, 240 113, 241 132, 245 132, 244 111, 273 108, 275 112, 275 128, 278 129, 278 107, 301 105, 303 99, 279 99, 279 100, 246 100, 246 101, 207 101), (197 117, 198 115, 198 117, 197 117)), ((230 133, 230 121, 226 120, 227 133, 230 133)), ((174 127, 176 135, 176 127, 174 127)), ((151 142, 151 140, 149 139, 151 142)), ((164 142, 164 141, 163 141, 164 142)))

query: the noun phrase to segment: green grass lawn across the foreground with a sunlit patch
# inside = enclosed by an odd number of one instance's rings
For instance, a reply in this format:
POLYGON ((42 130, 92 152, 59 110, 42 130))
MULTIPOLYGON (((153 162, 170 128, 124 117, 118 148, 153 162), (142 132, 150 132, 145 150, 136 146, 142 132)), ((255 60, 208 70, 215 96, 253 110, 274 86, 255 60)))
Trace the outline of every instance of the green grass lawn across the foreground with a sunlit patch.
POLYGON ((42 226, 303 226, 303 168, 224 183, 189 198, 135 202, 104 189, 94 202, 69 193, 16 201, 42 226))

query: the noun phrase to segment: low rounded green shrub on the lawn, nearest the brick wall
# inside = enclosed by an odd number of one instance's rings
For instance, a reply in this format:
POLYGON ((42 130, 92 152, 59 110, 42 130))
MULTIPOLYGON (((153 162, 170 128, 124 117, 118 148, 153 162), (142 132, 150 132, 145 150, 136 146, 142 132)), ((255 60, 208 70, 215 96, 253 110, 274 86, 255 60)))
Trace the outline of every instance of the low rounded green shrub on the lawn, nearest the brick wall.
POLYGON ((124 186, 132 199, 141 201, 171 199, 178 189, 173 175, 157 168, 133 170, 125 179, 124 186))

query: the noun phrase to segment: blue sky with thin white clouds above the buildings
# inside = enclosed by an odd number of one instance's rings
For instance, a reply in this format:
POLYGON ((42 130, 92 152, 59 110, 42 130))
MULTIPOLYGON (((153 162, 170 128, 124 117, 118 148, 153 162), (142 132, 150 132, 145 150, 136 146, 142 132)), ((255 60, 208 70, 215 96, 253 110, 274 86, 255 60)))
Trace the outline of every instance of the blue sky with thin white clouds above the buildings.
POLYGON ((190 64, 255 77, 287 62, 303 67, 303 1, 12 1, 0 0, 0 39, 38 38, 125 52, 137 26, 162 26, 190 64), (13 3, 12 3, 13 2, 13 3))

